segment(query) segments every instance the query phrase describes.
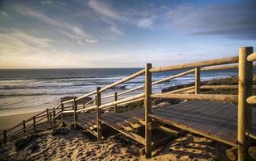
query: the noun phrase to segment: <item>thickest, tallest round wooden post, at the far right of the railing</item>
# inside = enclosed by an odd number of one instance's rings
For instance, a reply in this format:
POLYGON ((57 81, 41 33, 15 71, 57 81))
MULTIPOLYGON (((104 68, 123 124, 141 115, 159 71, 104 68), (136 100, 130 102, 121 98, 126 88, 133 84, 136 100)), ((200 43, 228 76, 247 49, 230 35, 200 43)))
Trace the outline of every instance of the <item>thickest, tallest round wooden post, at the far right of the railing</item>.
POLYGON ((252 94, 252 63, 246 60, 247 56, 253 53, 253 47, 239 48, 239 72, 238 72, 238 114, 237 114, 237 142, 238 160, 248 160, 248 139, 246 139, 246 130, 250 130, 252 126, 251 106, 246 102, 246 98, 252 94))

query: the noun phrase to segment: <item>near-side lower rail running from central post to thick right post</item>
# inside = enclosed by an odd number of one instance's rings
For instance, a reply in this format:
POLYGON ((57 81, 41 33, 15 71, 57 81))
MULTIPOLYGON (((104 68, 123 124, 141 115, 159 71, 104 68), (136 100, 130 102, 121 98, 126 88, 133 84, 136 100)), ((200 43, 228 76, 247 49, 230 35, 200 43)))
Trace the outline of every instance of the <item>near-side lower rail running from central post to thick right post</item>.
POLYGON ((153 98, 176 98, 188 100, 209 100, 209 101, 232 101, 237 102, 237 95, 228 94, 174 94, 174 93, 155 93, 153 98))

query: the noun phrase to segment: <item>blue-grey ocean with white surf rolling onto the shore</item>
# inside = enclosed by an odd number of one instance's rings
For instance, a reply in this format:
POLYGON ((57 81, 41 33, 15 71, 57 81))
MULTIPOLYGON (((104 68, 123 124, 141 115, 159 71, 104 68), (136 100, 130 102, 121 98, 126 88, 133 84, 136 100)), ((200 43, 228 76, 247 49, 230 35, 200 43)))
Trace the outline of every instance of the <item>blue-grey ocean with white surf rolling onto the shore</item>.
MULTIPOLYGON (((23 114, 52 108, 60 103, 61 97, 79 97, 96 89, 118 81, 142 68, 72 68, 72 69, 1 69, 0 70, 0 116, 23 114)), ((153 81, 182 71, 158 72, 153 81)), ((213 80, 227 76, 236 76, 237 70, 201 72, 201 80, 213 80)), ((113 94, 142 85, 144 76, 109 89, 102 95, 113 94)), ((153 92, 173 85, 194 81, 194 75, 188 74, 160 85, 154 85, 153 92)), ((142 90, 135 91, 141 93, 142 90)))

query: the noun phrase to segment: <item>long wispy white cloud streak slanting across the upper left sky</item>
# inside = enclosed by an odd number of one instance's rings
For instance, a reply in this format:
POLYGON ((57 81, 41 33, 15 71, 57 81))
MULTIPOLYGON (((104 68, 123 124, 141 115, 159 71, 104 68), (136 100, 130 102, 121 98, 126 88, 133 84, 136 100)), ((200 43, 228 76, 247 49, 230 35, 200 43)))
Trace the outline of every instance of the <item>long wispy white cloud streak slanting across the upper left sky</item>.
POLYGON ((69 36, 72 39, 76 39, 76 42, 79 44, 85 43, 96 43, 97 39, 93 35, 89 35, 84 29, 78 24, 72 24, 71 22, 64 22, 60 19, 52 19, 47 17, 44 14, 31 10, 25 6, 19 7, 19 13, 25 16, 31 17, 33 19, 39 19, 43 23, 47 23, 52 27, 56 27, 60 33, 69 36))

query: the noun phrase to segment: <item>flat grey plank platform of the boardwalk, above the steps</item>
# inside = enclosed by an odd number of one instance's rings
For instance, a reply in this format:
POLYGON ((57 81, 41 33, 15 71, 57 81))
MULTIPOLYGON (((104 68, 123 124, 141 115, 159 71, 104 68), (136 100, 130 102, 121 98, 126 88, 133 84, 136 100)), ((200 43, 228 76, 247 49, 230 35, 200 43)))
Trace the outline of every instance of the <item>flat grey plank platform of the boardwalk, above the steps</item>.
MULTIPOLYGON (((159 122, 190 130, 232 146, 237 142, 237 105, 217 101, 186 101, 154 109, 151 116, 159 122)), ((256 122, 256 109, 253 118, 256 122)))

